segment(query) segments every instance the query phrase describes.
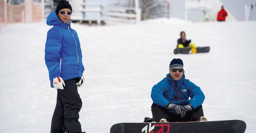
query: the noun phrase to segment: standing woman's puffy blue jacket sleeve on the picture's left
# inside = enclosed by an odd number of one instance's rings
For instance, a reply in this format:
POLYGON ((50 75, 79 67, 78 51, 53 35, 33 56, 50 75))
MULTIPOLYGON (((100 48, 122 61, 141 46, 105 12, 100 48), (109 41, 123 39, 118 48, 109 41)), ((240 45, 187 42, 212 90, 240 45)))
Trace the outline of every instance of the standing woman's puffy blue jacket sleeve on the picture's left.
POLYGON ((60 50, 62 35, 58 29, 50 29, 45 43, 45 64, 49 71, 50 79, 61 76, 60 74, 60 50))

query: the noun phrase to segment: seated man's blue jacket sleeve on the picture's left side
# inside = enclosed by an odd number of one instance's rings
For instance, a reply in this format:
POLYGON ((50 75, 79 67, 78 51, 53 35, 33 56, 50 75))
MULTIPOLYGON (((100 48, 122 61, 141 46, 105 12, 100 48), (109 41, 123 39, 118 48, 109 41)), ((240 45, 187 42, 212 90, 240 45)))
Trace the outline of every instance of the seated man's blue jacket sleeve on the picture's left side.
POLYGON ((168 88, 168 82, 164 78, 152 87, 151 98, 155 104, 165 107, 169 101, 164 97, 165 89, 168 88))

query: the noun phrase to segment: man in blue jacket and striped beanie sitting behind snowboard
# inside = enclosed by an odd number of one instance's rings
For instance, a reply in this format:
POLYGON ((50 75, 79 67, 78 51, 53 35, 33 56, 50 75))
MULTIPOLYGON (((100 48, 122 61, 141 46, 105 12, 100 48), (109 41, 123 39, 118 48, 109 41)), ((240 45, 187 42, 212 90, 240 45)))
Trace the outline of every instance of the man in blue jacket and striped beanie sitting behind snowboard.
POLYGON ((202 108, 205 96, 200 87, 185 79, 181 59, 171 61, 169 73, 152 87, 151 98, 156 122, 207 121, 202 108))

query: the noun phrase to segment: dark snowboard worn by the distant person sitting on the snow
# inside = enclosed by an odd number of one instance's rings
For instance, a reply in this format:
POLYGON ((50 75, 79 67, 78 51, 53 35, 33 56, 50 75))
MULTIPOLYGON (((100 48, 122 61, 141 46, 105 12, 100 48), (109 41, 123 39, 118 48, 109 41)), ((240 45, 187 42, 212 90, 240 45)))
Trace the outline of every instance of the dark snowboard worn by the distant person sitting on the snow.
MULTIPOLYGON (((197 47, 196 53, 208 53, 210 47, 197 47)), ((176 48, 174 54, 191 54, 191 48, 176 48)))

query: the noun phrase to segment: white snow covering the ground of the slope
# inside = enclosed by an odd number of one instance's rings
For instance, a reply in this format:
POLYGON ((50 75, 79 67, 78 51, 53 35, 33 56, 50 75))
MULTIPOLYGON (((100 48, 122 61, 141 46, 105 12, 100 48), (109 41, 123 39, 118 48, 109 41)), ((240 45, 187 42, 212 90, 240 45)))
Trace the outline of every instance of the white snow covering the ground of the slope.
MULTIPOLYGON (((109 133, 120 122, 152 117, 151 88, 168 73, 173 58, 206 98, 208 120, 244 120, 256 131, 256 22, 191 23, 159 19, 136 25, 71 25, 79 35, 85 85, 79 121, 86 133, 109 133), (174 55, 179 33, 210 53, 174 55)), ((44 61, 45 21, 9 25, 0 31, 0 131, 47 133, 57 91, 44 61)))

